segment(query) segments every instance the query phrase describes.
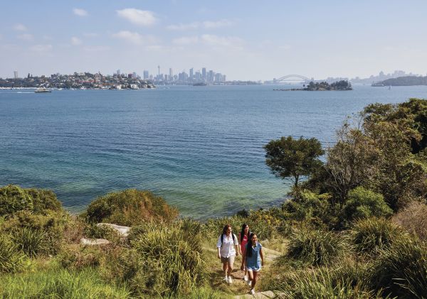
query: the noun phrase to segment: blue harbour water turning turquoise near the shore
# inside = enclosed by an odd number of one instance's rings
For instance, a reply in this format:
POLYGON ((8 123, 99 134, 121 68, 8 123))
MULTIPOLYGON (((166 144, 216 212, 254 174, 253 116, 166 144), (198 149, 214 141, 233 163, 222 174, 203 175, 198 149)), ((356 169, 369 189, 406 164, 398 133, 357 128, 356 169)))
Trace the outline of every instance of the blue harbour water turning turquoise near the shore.
POLYGON ((427 87, 273 88, 1 90, 0 185, 52 189, 72 212, 130 187, 198 219, 268 207, 289 188, 265 166, 270 139, 316 137, 328 146, 345 117, 371 102, 427 98, 427 87))

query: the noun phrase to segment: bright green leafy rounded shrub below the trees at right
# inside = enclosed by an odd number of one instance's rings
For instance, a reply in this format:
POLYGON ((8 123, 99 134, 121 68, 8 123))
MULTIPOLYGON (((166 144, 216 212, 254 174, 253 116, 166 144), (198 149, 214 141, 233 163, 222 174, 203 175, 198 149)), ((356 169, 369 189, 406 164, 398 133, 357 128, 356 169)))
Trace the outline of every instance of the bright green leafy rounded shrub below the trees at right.
POLYGON ((349 192, 344 205, 345 220, 367 219, 369 217, 389 217, 393 210, 386 204, 384 197, 364 187, 349 192))

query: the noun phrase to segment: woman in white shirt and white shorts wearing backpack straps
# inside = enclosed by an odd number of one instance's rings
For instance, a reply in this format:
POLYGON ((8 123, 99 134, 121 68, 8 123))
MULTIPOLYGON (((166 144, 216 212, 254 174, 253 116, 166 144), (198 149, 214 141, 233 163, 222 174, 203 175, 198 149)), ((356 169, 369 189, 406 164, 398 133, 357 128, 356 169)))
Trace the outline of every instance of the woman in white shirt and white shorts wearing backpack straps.
POLYGON ((234 259, 238 256, 238 241, 230 224, 226 224, 223 228, 223 232, 216 242, 216 248, 218 249, 218 259, 221 259, 221 263, 223 263, 223 281, 233 283, 231 271, 233 271, 234 259))

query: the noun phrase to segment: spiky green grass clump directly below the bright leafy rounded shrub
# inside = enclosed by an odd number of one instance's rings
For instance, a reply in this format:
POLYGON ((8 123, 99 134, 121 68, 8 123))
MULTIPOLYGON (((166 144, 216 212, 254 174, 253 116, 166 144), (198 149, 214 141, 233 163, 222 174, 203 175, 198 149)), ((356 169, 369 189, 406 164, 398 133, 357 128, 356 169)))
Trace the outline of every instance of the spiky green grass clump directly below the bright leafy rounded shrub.
POLYGON ((350 240, 359 253, 376 255, 394 241, 405 237, 403 229, 384 218, 360 220, 350 231, 350 240))

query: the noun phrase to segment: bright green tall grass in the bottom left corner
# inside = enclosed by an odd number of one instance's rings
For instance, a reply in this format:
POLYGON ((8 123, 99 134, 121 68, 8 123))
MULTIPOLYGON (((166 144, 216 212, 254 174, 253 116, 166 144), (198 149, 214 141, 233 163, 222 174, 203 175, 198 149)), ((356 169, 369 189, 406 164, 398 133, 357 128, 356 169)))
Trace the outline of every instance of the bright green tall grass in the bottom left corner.
POLYGON ((130 298, 125 287, 108 285, 97 271, 73 272, 64 269, 4 276, 1 298, 130 298))

